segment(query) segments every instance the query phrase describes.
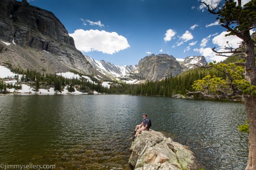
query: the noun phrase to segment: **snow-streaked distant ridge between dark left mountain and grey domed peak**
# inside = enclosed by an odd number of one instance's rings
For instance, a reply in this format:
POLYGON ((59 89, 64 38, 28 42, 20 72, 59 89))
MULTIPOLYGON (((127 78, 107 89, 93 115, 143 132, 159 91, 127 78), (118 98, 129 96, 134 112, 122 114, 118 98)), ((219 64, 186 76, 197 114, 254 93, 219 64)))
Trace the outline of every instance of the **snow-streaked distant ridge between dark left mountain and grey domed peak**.
POLYGON ((96 61, 89 56, 84 56, 92 65, 93 68, 110 77, 120 77, 130 73, 132 70, 137 68, 137 65, 130 66, 116 66, 110 62, 105 62, 104 60, 96 61))

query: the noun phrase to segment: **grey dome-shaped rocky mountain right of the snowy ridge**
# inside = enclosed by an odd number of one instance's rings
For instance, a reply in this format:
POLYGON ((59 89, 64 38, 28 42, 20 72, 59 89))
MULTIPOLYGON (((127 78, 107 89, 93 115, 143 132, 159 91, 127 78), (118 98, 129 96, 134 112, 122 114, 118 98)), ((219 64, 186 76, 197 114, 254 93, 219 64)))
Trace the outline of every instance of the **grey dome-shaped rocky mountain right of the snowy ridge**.
POLYGON ((137 69, 130 74, 133 79, 159 81, 165 77, 176 76, 182 72, 182 67, 172 55, 151 54, 141 59, 137 69))

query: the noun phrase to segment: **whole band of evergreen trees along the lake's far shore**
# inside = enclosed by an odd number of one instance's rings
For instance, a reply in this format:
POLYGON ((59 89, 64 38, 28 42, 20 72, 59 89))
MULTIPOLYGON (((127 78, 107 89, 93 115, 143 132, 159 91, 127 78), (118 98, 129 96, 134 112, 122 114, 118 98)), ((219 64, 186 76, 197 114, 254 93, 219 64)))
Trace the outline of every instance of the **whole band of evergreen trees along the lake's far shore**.
MULTIPOLYGON (((234 62, 237 58, 228 58, 225 62, 234 62)), ((9 65, 9 67, 11 67, 9 65)), ((217 77, 224 77, 223 73, 217 70, 196 68, 193 70, 188 70, 187 72, 181 73, 175 77, 165 78, 162 81, 146 81, 143 84, 126 84, 120 83, 118 81, 113 81, 110 88, 102 86, 102 84, 95 78, 91 77, 92 81, 88 81, 86 78, 65 78, 63 76, 51 73, 40 72, 36 70, 23 70, 20 68, 12 68, 11 71, 18 73, 21 77, 16 77, 20 79, 21 82, 25 82, 35 89, 35 91, 40 88, 49 89, 53 87, 55 91, 61 92, 64 87, 67 86, 69 92, 74 92, 75 87, 78 91, 83 93, 97 91, 99 93, 106 94, 131 94, 131 95, 142 95, 142 96, 164 96, 171 97, 175 94, 185 95, 188 91, 193 91, 192 85, 194 81, 202 79, 203 77, 209 75, 216 75, 217 77)), ((79 74, 75 70, 71 72, 79 74)), ((19 82, 20 84, 20 82, 19 82)), ((4 83, 0 81, 0 91, 6 93, 6 88, 16 88, 20 89, 21 85, 11 85, 9 83, 4 83)), ((198 96, 194 96, 198 98, 198 96)))

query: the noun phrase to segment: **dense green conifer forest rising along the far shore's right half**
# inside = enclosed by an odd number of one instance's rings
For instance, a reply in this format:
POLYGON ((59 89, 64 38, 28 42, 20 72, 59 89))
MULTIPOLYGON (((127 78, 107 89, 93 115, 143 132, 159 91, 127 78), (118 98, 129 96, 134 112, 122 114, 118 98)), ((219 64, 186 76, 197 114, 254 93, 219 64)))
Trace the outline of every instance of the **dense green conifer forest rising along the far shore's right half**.
POLYGON ((147 81, 143 84, 131 85, 111 85, 108 93, 165 97, 171 97, 175 94, 186 95, 187 90, 193 91, 192 85, 194 81, 202 79, 208 74, 219 77, 223 76, 223 73, 216 70, 196 68, 194 70, 181 73, 175 77, 165 78, 165 80, 162 81, 147 81))

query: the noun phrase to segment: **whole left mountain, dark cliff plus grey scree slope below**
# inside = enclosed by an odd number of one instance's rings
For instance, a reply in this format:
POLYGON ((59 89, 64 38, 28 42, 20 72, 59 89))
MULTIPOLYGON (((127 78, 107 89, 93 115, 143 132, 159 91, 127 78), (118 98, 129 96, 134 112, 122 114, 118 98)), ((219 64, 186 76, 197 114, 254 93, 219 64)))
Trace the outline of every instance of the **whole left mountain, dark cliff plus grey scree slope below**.
POLYGON ((53 73, 76 70, 106 78, 76 49, 73 38, 52 12, 31 6, 26 0, 0 1, 0 39, 12 43, 1 43, 2 62, 24 69, 53 73))

